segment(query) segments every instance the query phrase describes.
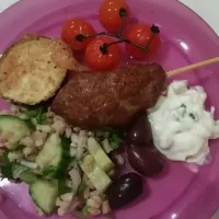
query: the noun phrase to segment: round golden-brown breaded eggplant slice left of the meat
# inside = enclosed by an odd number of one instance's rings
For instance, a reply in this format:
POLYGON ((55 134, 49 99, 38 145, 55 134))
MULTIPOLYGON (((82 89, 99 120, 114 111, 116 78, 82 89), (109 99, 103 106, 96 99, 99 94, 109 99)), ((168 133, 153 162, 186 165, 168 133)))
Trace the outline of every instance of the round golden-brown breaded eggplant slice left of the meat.
POLYGON ((60 39, 25 36, 0 59, 0 95, 35 105, 56 93, 67 70, 79 67, 70 47, 60 39))

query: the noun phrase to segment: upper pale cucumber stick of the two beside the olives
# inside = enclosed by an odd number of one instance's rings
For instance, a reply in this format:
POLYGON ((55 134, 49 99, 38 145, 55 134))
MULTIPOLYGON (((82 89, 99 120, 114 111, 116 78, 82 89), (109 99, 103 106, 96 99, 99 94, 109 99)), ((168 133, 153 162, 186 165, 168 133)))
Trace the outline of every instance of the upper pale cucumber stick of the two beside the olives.
POLYGON ((92 137, 89 138, 88 140, 88 150, 93 155, 95 162, 106 173, 108 173, 114 168, 114 163, 111 161, 107 154, 103 151, 99 142, 92 137))

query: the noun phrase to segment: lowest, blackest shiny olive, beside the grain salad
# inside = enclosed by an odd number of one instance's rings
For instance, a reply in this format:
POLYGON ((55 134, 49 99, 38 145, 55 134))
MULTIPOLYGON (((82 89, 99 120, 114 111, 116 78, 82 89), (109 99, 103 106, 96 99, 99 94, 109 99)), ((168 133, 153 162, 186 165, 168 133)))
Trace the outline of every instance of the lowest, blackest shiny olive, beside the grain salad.
POLYGON ((135 200, 143 192, 143 182, 137 173, 122 175, 108 188, 108 203, 115 210, 135 200))

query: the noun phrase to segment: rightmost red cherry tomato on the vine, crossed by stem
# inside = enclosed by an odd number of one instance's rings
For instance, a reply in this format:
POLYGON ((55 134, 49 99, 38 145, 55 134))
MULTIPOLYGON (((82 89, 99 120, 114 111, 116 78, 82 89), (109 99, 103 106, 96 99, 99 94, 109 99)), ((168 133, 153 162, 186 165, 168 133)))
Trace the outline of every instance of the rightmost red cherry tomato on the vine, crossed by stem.
MULTIPOLYGON (((127 38, 140 46, 148 45, 148 54, 154 54, 160 46, 160 35, 157 26, 149 26, 143 23, 136 24, 130 27, 127 33, 127 38)), ((134 58, 142 59, 147 57, 147 53, 130 44, 127 45, 127 51, 134 58)))

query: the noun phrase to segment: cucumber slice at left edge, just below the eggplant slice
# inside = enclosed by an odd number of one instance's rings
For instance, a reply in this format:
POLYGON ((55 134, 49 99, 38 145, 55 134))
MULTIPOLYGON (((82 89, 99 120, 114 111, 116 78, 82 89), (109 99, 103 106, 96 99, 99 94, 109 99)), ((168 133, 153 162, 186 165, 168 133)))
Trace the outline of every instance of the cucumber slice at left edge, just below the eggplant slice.
POLYGON ((19 141, 22 140, 32 130, 27 120, 16 116, 0 115, 0 132, 1 137, 8 140, 9 149, 16 149, 19 141))

